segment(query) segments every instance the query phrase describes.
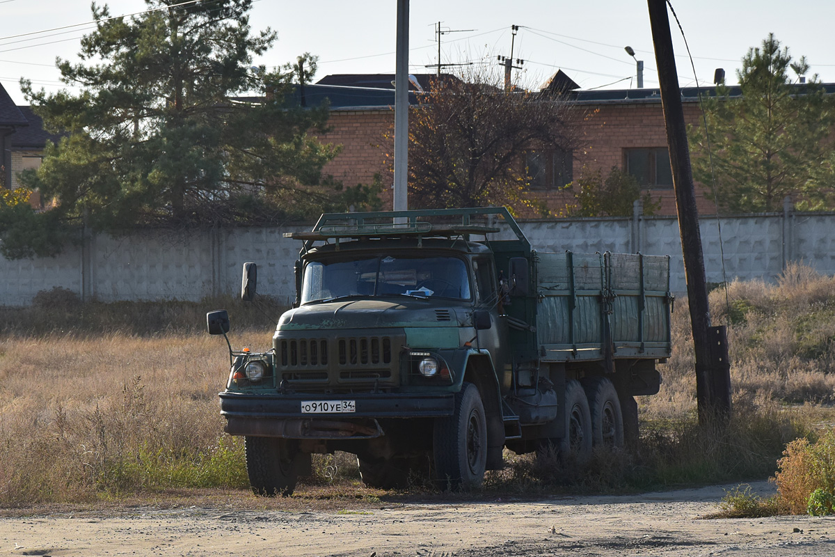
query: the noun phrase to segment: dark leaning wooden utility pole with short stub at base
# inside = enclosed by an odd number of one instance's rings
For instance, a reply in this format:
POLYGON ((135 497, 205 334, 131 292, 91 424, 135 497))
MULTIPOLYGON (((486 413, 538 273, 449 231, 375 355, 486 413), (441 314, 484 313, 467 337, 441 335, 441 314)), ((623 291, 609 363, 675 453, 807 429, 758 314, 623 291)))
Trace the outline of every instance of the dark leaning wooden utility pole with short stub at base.
POLYGON ((711 423, 712 418, 726 422, 731 417, 731 362, 728 359, 727 333, 725 327, 711 327, 696 192, 670 35, 670 19, 667 17, 665 0, 647 0, 647 3, 650 8, 650 28, 652 42, 655 44, 667 145, 670 149, 673 187, 676 190, 681 251, 684 256, 693 348, 696 352, 699 422, 711 423))

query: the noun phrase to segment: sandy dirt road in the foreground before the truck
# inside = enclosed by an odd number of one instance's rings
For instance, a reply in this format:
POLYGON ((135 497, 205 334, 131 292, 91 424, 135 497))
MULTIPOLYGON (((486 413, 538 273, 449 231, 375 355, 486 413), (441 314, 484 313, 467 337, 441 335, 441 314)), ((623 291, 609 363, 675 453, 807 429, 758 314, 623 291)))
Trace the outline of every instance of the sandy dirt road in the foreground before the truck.
POLYGON ((342 512, 139 508, 0 519, 0 556, 835 555, 835 518, 700 519, 724 489, 731 486, 342 512))

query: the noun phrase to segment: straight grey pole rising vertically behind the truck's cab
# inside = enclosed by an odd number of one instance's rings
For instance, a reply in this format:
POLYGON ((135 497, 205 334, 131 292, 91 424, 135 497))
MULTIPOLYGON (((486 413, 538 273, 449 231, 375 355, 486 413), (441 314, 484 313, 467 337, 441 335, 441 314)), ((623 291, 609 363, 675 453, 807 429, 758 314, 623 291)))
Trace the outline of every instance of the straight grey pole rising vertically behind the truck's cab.
POLYGON ((394 210, 408 209, 409 0, 397 0, 397 66, 394 75, 394 210))

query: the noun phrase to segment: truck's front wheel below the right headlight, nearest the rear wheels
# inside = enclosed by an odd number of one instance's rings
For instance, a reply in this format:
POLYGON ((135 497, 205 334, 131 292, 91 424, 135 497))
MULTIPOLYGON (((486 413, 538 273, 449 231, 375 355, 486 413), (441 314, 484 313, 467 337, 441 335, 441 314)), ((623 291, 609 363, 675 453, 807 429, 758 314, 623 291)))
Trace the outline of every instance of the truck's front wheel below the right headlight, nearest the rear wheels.
POLYGON ((435 483, 440 489, 474 489, 487 466, 487 418, 478 387, 464 382, 455 413, 436 418, 433 429, 435 483))

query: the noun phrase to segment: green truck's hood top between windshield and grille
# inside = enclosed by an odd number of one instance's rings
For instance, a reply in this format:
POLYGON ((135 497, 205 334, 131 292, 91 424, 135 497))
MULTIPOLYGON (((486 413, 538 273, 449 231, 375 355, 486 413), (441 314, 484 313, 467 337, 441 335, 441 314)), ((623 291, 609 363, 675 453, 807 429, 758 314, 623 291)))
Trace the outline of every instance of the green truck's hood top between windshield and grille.
POLYGON ((358 329, 380 327, 459 327, 461 308, 428 300, 339 300, 308 304, 286 311, 278 322, 294 329, 358 329))

